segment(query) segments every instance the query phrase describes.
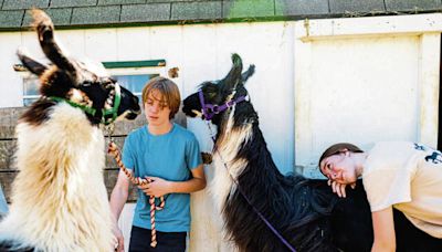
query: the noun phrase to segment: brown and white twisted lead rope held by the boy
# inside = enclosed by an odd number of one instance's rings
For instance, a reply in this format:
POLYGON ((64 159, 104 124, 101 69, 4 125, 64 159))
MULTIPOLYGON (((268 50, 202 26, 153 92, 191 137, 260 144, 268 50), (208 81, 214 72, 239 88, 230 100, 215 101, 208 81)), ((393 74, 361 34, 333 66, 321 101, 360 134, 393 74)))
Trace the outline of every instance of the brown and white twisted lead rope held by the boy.
MULTIPOLYGON (((136 186, 145 186, 149 182, 151 182, 151 179, 143 179, 140 177, 134 177, 133 174, 124 166, 123 161, 122 161, 122 155, 120 151, 117 147, 117 145, 115 144, 115 141, 112 139, 112 130, 113 130, 113 126, 108 127, 108 137, 109 137, 109 145, 108 145, 108 149, 107 153, 110 154, 112 156, 114 156, 115 161, 117 162, 119 169, 127 176, 127 178, 130 180, 131 183, 136 185, 136 186)), ((165 197, 160 197, 159 198, 160 203, 159 206, 155 204, 155 196, 149 196, 149 204, 150 204, 150 225, 151 225, 151 230, 150 230, 150 237, 151 237, 151 242, 150 242, 150 246, 155 248, 157 246, 157 230, 155 229, 155 211, 160 211, 165 208, 166 201, 165 201, 165 197)))

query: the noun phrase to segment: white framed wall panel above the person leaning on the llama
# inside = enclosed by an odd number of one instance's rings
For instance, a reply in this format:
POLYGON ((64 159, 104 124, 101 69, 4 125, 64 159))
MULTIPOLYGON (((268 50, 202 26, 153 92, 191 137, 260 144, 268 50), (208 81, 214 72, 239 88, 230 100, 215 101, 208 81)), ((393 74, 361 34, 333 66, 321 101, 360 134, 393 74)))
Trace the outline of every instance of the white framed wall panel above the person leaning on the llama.
POLYGON ((436 147, 441 31, 440 13, 296 22, 296 166, 318 176, 340 141, 436 147))

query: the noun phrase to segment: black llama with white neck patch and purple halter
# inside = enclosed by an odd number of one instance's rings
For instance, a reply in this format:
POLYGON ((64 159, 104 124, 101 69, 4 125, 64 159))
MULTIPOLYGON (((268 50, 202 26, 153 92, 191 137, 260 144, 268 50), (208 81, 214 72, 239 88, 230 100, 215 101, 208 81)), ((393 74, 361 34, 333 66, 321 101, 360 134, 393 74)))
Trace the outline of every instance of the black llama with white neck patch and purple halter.
MULTIPOLYGON (((223 80, 202 83, 182 108, 187 116, 201 116, 218 128, 209 191, 222 213, 227 239, 240 251, 290 250, 255 208, 296 251, 370 251, 371 214, 361 181, 339 199, 326 180, 283 176, 244 87, 254 66, 242 73, 241 57, 233 54, 232 62, 223 80)), ((398 251, 441 251, 440 243, 399 211, 394 211, 394 222, 398 251)))

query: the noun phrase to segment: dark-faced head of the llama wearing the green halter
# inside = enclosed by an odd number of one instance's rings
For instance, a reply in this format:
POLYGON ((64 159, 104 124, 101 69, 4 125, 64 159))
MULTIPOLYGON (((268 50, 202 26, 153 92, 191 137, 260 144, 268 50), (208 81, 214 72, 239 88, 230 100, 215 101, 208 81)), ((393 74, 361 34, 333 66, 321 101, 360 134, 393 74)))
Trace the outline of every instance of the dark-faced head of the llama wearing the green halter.
POLYGON ((51 19, 41 10, 33 10, 32 15, 40 45, 52 64, 40 63, 22 51, 18 56, 39 76, 41 99, 65 101, 81 107, 92 124, 109 124, 117 117, 135 119, 140 113, 138 97, 119 86, 103 65, 70 57, 55 42, 51 19))

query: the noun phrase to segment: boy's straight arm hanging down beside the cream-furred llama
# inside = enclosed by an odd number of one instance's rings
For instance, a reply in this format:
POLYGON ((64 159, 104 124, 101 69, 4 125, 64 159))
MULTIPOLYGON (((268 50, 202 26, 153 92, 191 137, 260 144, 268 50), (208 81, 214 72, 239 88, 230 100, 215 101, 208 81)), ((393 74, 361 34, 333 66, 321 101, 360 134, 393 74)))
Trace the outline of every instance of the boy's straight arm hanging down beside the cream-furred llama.
POLYGON ((129 179, 123 171, 119 171, 117 182, 110 193, 110 212, 113 222, 113 233, 118 242, 118 252, 124 251, 124 238, 118 228, 118 219, 129 195, 129 179))

